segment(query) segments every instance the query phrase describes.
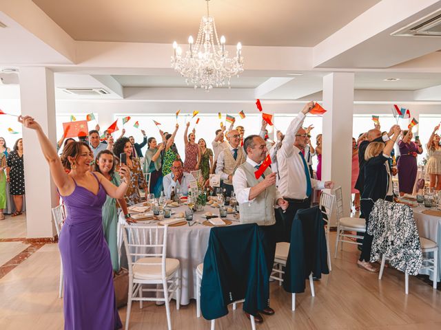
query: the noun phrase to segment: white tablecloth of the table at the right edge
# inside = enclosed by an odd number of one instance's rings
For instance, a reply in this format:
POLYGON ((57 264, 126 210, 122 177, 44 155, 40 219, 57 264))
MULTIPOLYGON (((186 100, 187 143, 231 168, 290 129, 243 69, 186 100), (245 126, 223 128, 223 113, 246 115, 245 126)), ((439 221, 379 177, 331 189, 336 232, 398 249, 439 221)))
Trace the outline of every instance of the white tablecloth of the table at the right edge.
MULTIPOLYGON (((433 210, 435 208, 432 208, 433 210)), ((438 243, 438 278, 437 281, 441 281, 441 217, 436 217, 433 215, 428 215, 422 213, 424 210, 430 210, 429 208, 424 208, 424 206, 418 206, 418 208, 413 208, 413 217, 415 218, 416 225, 418 227, 418 232, 421 237, 430 239, 438 243)), ((422 274, 430 274, 430 278, 433 281, 433 276, 429 271, 423 270, 422 274)))

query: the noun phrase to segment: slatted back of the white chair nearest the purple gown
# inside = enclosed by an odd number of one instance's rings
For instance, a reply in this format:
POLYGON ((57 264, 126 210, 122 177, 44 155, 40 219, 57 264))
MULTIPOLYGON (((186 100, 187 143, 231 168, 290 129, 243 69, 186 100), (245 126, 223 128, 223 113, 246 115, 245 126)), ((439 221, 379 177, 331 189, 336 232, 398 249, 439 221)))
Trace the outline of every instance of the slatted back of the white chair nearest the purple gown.
POLYGON ((141 258, 161 258, 161 262, 145 260, 136 265, 161 265, 162 278, 165 278, 165 257, 167 254, 168 225, 145 226, 121 224, 123 242, 129 275, 133 274, 133 266, 141 258))

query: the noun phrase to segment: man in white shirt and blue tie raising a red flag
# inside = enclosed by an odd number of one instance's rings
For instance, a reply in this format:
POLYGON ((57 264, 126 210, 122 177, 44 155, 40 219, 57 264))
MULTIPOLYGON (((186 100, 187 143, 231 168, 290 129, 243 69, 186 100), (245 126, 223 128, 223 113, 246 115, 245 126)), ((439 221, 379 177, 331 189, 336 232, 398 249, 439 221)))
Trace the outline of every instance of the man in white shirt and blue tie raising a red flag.
MULTIPOLYGON (((294 220, 297 210, 311 206, 311 193, 313 189, 334 188, 332 181, 318 181, 311 179, 309 168, 302 149, 307 142, 307 133, 302 129, 303 121, 309 111, 314 107, 314 102, 309 102, 300 111, 296 118, 291 121, 287 129, 282 146, 277 152, 278 171, 280 179, 278 189, 289 203, 285 212, 287 228, 294 220)), ((289 236, 291 233, 285 233, 289 236)))

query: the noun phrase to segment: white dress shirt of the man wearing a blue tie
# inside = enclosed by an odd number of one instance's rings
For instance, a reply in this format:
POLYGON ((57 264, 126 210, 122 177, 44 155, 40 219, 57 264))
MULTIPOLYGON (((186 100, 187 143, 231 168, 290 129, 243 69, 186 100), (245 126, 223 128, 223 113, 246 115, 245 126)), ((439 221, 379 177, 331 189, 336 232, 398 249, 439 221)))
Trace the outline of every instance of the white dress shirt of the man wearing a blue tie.
MULTIPOLYGON (((305 114, 300 111, 289 124, 282 146, 277 152, 278 173, 280 175, 278 190, 283 197, 291 199, 307 198, 305 166, 302 156, 299 155, 300 149, 293 145, 303 120, 305 120, 305 114)), ((311 188, 325 189, 325 184, 322 181, 311 179, 311 188)))

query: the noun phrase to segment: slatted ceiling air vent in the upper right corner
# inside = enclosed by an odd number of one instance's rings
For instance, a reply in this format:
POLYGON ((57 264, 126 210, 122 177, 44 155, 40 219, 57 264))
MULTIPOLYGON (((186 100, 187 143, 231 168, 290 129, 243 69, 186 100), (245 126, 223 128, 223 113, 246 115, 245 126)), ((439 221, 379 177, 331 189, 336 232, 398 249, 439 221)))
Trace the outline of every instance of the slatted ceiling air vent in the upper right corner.
POLYGON ((441 36, 441 10, 393 32, 392 36, 441 36))

